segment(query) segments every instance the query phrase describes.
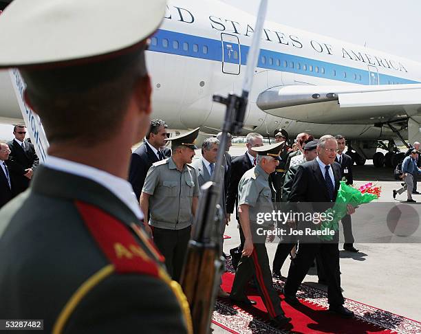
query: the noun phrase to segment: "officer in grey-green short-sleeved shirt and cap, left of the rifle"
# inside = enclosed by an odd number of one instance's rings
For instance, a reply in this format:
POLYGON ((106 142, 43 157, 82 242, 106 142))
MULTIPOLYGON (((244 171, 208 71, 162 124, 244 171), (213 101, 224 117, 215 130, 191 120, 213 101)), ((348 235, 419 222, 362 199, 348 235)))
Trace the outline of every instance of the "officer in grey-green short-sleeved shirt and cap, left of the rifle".
MULTIPOLYGON (((144 215, 151 214, 153 241, 165 257, 166 269, 177 281, 199 199, 197 170, 189 165, 195 156, 194 142, 198 134, 199 128, 168 139, 173 155, 149 168, 140 195, 144 215)), ((147 221, 144 227, 151 233, 147 221)))

